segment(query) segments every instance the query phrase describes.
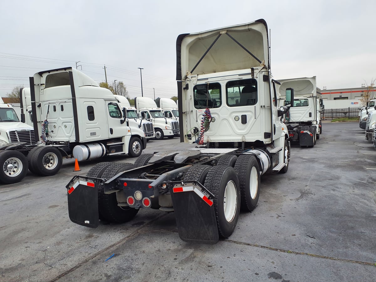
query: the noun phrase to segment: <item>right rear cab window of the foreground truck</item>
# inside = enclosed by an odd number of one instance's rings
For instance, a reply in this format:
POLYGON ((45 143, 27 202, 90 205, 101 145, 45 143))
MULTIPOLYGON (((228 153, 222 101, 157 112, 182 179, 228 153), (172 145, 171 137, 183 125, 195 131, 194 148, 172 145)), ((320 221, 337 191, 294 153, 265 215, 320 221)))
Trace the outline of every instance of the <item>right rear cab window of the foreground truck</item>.
POLYGON ((253 106, 257 100, 256 79, 233 80, 226 83, 227 106, 253 106))

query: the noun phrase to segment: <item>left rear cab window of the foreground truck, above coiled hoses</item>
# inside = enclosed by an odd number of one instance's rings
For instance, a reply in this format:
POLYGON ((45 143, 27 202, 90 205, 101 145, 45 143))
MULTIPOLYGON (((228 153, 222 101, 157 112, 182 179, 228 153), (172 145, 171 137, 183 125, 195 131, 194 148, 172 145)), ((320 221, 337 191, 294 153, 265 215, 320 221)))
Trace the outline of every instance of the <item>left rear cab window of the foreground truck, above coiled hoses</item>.
POLYGON ((219 108, 221 106, 220 83, 198 84, 193 87, 196 109, 219 108))

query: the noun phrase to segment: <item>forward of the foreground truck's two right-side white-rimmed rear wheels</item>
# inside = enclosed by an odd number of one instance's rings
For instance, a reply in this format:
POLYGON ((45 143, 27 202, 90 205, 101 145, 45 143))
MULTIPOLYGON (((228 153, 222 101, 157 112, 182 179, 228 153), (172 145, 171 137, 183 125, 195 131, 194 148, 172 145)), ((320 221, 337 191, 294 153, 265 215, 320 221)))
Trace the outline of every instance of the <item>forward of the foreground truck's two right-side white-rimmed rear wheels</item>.
POLYGON ((253 211, 260 196, 260 168, 253 155, 240 155, 235 164, 240 183, 240 209, 253 211))

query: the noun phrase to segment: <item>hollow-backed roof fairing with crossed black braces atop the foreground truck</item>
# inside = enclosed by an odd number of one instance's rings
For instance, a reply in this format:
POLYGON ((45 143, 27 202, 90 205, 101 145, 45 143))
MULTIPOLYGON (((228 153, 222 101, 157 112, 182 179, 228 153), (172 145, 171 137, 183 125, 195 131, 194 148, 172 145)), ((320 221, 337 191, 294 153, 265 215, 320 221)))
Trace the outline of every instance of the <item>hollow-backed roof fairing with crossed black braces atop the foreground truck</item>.
POLYGON ((180 35, 177 39, 177 80, 185 79, 187 71, 191 74, 207 74, 243 70, 259 67, 260 62, 263 61, 269 69, 268 47, 268 30, 264 20, 180 35), (208 53, 202 58, 207 51, 208 53), (198 62, 199 64, 194 68, 198 62))

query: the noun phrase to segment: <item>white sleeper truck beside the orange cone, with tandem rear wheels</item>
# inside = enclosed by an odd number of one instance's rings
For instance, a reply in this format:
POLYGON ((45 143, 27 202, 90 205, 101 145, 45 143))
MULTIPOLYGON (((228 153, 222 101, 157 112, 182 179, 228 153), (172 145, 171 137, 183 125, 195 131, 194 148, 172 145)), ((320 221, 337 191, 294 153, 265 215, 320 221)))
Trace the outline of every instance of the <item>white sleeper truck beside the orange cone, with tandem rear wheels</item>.
POLYGON ((146 147, 145 133, 129 127, 112 92, 74 68, 41 71, 30 77, 30 101, 33 130, 25 131, 28 140, 19 138, 0 147, 3 183, 19 182, 27 168, 42 176, 56 174, 63 158, 137 157, 146 147), (41 146, 31 149, 37 141, 41 146))

